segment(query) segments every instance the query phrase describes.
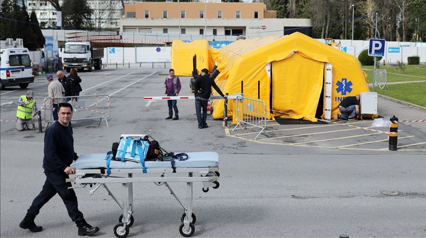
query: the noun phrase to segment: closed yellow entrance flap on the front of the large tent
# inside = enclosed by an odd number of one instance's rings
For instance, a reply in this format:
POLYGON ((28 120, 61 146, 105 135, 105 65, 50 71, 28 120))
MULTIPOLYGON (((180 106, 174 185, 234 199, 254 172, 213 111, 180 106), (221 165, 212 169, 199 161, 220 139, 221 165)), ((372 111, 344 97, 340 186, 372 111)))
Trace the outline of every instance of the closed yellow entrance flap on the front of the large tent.
POLYGON ((324 63, 295 53, 272 62, 271 69, 274 116, 317 121, 315 114, 324 85, 324 63))

